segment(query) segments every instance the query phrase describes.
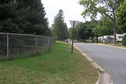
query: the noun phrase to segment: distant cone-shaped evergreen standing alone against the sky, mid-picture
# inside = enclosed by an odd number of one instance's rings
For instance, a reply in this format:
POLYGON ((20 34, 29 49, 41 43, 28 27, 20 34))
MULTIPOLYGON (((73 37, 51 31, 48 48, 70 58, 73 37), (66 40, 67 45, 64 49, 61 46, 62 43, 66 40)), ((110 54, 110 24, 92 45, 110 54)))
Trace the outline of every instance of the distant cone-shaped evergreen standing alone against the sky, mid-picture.
POLYGON ((64 22, 63 11, 59 10, 59 13, 54 18, 54 23, 52 25, 53 36, 58 40, 65 40, 68 38, 69 32, 66 23, 64 22))

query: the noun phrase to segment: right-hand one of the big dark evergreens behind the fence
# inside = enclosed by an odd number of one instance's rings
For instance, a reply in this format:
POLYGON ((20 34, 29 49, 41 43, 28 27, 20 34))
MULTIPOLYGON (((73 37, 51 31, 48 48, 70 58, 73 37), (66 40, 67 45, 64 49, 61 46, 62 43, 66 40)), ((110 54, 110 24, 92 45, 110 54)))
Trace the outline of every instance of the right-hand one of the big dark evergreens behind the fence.
POLYGON ((47 18, 45 18, 45 10, 41 0, 17 0, 20 8, 28 8, 26 12, 27 28, 24 29, 27 33, 47 35, 50 31, 47 18))

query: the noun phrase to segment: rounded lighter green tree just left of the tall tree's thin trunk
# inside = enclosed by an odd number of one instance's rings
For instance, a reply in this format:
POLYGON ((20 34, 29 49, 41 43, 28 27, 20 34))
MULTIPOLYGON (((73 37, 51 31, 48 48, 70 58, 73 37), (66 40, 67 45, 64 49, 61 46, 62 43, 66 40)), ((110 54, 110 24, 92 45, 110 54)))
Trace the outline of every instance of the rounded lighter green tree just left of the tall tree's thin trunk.
POLYGON ((97 26, 93 29, 93 33, 96 36, 104 36, 104 35, 112 35, 113 28, 112 22, 106 16, 102 17, 101 20, 98 21, 97 26))

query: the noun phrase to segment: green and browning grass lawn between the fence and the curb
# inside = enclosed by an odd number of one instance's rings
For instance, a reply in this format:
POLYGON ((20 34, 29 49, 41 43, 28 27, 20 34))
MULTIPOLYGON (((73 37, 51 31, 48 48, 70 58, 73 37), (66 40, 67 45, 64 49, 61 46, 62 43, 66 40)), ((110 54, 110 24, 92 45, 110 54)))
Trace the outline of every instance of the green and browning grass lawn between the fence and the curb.
POLYGON ((0 84, 95 84, 97 70, 71 45, 56 42, 40 56, 0 62, 0 84))

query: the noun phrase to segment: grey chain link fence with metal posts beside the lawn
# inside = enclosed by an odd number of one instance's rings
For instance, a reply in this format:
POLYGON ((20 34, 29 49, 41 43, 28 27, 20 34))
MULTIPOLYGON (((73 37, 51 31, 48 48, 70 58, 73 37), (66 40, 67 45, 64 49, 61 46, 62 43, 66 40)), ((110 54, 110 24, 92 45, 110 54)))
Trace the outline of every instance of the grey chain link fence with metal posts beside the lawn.
POLYGON ((55 43, 50 36, 0 33, 0 61, 36 56, 55 43))

